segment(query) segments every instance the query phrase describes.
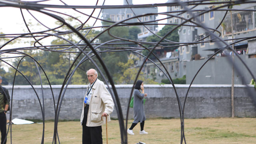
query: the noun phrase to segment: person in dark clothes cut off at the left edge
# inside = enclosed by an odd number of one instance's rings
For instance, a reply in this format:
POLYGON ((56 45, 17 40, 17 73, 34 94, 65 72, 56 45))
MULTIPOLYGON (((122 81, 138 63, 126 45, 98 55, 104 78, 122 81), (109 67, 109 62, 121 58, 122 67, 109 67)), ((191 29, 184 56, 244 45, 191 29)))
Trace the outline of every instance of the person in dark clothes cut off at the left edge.
POLYGON ((6 88, 2 87, 2 77, 0 76, 0 130, 1 144, 6 144, 6 113, 9 108, 10 96, 6 88))

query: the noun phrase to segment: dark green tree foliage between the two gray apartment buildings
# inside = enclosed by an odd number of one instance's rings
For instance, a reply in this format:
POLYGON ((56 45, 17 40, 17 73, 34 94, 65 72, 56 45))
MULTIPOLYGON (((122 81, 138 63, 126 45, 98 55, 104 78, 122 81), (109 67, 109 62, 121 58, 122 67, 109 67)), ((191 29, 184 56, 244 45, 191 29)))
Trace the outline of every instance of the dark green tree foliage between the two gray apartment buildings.
MULTIPOLYGON (((166 25, 162 28, 162 30, 160 30, 157 35, 160 37, 163 37, 165 34, 167 34, 168 32, 170 32, 175 26, 172 25, 166 25)), ((172 33, 170 33, 168 36, 166 36, 165 38, 166 40, 170 40, 170 41, 174 41, 174 42, 179 42, 179 35, 178 35, 178 29, 175 29, 172 33)), ((147 38, 147 42, 158 42, 160 40, 160 38, 158 38, 155 35, 152 36, 148 36, 147 38)), ((166 40, 163 40, 162 42, 167 42, 166 40)), ((174 44, 162 44, 162 46, 174 46, 174 44)), ((152 47, 152 45, 148 45, 147 47, 152 47)), ((164 48, 164 50, 166 52, 172 51, 177 49, 178 47, 170 47, 170 48, 164 48)), ((157 53, 162 53, 164 52, 163 49, 161 50, 154 50, 154 54, 157 53)), ((142 54, 143 55, 148 55, 149 51, 148 50, 143 50, 142 54)), ((149 57, 150 59, 154 59, 153 55, 150 55, 149 57)))

